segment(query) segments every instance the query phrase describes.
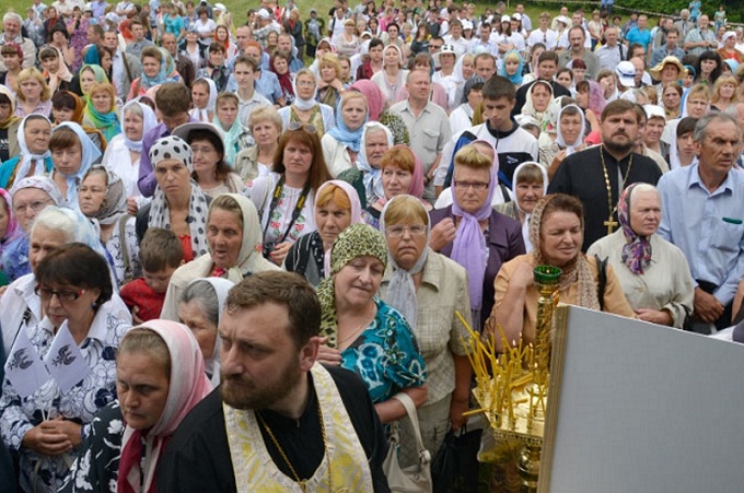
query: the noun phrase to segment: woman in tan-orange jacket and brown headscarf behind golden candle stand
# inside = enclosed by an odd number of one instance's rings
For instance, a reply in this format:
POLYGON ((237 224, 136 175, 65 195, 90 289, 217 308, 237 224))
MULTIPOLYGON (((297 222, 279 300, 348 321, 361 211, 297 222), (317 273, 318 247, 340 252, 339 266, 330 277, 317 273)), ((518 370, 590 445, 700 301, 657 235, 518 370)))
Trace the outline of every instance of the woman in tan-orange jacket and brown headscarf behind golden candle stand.
POLYGON ((581 202, 563 193, 543 197, 532 212, 530 238, 532 253, 503 265, 496 278, 496 304, 487 330, 496 336, 501 326, 507 341, 535 341, 537 298, 533 270, 553 266, 562 270, 558 296, 562 303, 633 317, 615 269, 605 269, 606 282, 600 285, 601 269, 594 257, 581 253, 584 242, 584 213, 581 202))

